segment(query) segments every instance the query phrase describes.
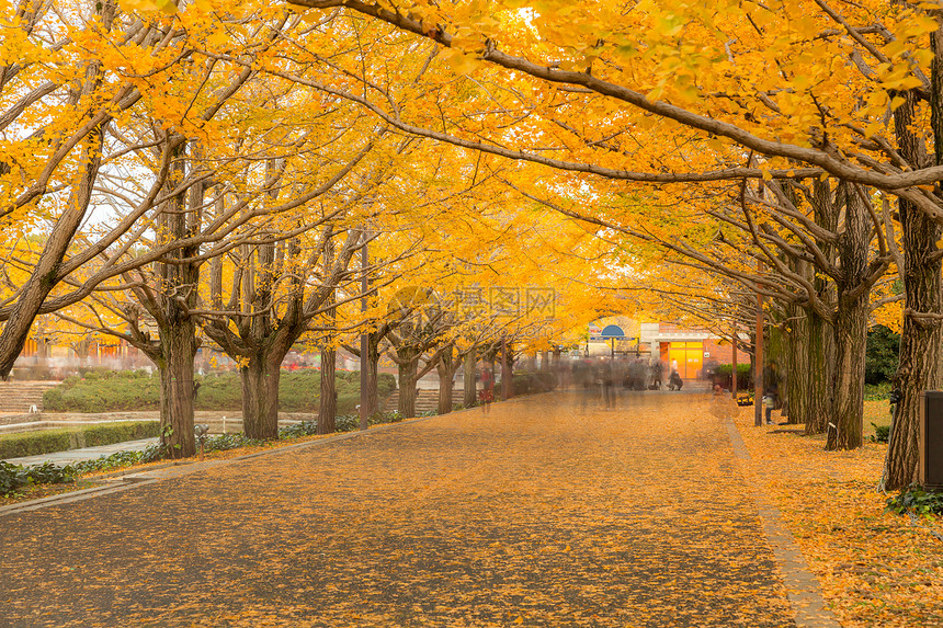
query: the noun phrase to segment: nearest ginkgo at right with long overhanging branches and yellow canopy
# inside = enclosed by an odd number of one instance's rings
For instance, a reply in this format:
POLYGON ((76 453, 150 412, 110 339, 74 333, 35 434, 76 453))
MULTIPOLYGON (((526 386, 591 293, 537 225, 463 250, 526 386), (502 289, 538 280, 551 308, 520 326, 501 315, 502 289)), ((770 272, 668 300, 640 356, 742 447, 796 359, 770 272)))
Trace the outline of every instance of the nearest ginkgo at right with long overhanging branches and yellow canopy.
POLYGON ((907 305, 888 486, 916 477, 919 392, 941 384, 935 242, 943 214, 933 186, 943 164, 933 147, 943 125, 933 103, 943 50, 934 8, 866 2, 839 10, 825 0, 297 4, 343 7, 441 46, 444 62, 430 83, 441 80, 422 93, 430 106, 391 111, 384 85, 371 83, 367 93, 322 82, 405 132, 618 181, 831 176, 897 197, 907 305), (487 96, 462 98, 469 90, 487 96), (451 115, 433 114, 442 111, 451 115), (716 157, 690 160, 684 147, 693 144, 716 157))

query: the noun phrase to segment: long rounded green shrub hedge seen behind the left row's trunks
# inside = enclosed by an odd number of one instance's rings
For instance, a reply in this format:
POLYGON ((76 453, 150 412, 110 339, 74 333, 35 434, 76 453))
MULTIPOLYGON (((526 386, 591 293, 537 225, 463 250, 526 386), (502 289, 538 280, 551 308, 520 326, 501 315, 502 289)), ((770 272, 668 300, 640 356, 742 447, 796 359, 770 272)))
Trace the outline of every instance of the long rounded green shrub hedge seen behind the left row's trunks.
MULTIPOLYGON (((279 379, 279 410, 317 412, 320 403, 319 370, 285 370, 279 379)), ((196 410, 242 409, 242 384, 238 373, 196 376, 196 410)), ((360 402, 360 373, 337 373, 338 414, 352 413, 360 402)), ((379 374, 379 396, 396 389, 396 380, 379 374)), ((90 372, 84 377, 69 377, 61 386, 43 393, 43 406, 53 412, 121 412, 160 409, 160 376, 146 370, 90 372)))

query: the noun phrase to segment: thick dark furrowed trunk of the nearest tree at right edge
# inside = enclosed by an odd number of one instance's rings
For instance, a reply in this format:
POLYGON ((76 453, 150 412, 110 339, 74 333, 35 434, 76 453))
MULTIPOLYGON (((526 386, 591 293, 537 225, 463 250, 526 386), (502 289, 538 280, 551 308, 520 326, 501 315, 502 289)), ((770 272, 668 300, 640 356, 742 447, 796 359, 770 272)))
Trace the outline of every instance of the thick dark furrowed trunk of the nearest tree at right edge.
MULTIPOLYGON (((936 37, 934 34, 933 41, 936 37)), ((934 46, 935 48, 935 46, 934 46)), ((938 57, 940 50, 934 49, 938 57)), ((940 119, 941 79, 939 59, 933 60, 933 119, 934 132, 940 119)), ((907 92, 906 102, 894 112, 895 130, 901 155, 910 163, 918 163, 917 138, 912 133, 914 95, 907 92)), ((936 133, 934 133, 936 135, 936 133)), ((936 162, 940 163, 940 138, 936 141, 936 162)), ((920 393, 939 390, 943 384, 940 369, 940 344, 943 342, 943 321, 920 317, 920 313, 939 315, 941 311, 940 272, 936 241, 940 228, 911 203, 900 199, 900 230, 904 239, 904 328, 900 333, 900 354, 894 380, 901 393, 891 423, 884 486, 888 490, 904 489, 917 481, 919 463, 918 429, 920 393)))

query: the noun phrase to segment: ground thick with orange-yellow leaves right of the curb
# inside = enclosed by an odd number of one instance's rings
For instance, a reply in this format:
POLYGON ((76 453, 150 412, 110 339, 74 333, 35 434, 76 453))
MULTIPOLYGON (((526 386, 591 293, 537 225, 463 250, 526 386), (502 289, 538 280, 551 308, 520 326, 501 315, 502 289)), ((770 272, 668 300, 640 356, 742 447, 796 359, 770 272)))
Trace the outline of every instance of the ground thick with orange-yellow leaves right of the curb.
POLYGON ((752 408, 740 410, 745 468, 782 512, 842 625, 943 625, 943 543, 933 535, 943 522, 914 525, 886 509, 875 487, 887 446, 826 452, 822 437, 752 423, 752 408))

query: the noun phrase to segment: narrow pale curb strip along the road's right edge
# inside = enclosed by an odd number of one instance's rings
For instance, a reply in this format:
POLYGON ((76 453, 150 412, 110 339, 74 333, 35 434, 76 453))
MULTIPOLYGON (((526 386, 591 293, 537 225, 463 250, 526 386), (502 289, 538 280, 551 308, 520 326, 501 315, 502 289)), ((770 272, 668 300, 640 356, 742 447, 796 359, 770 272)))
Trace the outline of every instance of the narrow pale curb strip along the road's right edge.
POLYGON ((802 628, 841 628, 821 594, 818 579, 809 571, 808 563, 795 537, 783 522, 780 510, 766 499, 753 480, 743 472, 743 461, 750 459, 747 445, 737 424, 727 416, 724 420, 730 445, 740 467, 743 483, 752 492, 753 502, 763 524, 763 534, 773 550, 773 558, 783 575, 786 597, 793 608, 796 626, 802 628))

